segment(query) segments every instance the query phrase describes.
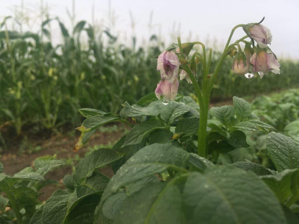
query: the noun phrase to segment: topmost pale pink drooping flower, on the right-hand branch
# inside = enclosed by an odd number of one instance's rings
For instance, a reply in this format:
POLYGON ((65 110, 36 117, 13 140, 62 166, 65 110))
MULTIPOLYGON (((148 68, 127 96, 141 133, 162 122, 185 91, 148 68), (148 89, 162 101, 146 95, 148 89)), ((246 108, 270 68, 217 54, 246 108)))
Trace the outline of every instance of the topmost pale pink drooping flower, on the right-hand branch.
POLYGON ((248 28, 249 36, 253 38, 260 48, 268 47, 268 44, 272 41, 272 35, 270 30, 262 24, 255 24, 248 28))

